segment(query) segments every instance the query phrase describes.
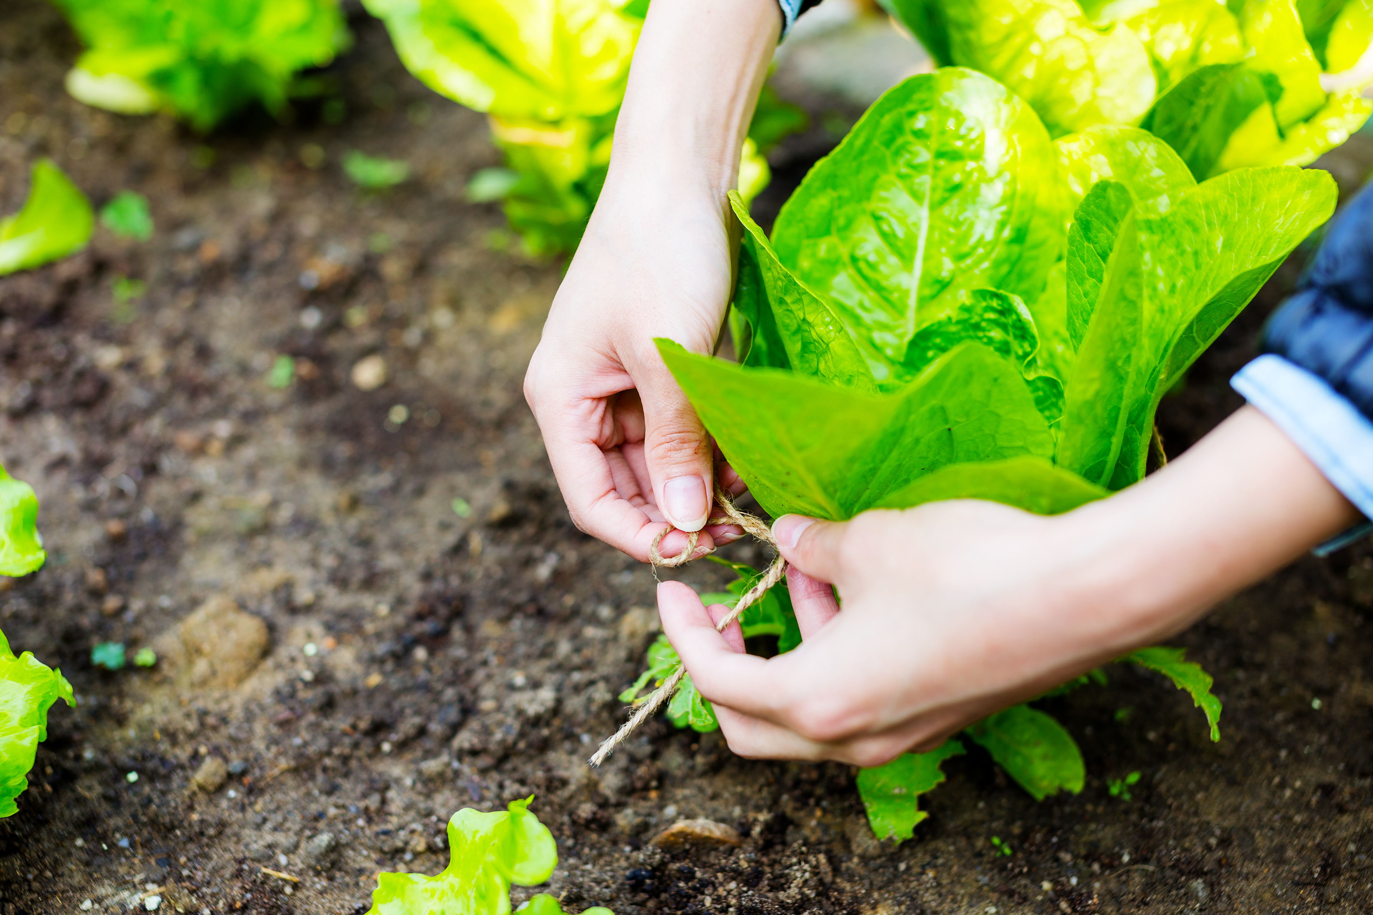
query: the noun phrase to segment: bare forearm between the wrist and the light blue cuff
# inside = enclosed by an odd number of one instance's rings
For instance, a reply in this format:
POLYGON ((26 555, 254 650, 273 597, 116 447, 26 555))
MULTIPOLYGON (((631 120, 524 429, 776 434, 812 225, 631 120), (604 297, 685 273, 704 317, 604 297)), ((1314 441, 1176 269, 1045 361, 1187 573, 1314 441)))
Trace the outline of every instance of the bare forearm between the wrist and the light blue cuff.
POLYGON ((1063 517, 1083 551, 1078 630, 1114 647, 1173 635, 1358 517, 1244 407, 1138 486, 1063 517))

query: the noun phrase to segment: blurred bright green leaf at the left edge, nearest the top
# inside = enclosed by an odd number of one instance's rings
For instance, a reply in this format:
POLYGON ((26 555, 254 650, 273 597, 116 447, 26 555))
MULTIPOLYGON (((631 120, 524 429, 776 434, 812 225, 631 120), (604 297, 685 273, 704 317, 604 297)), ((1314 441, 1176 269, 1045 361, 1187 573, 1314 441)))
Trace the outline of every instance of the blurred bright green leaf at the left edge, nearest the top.
POLYGON ((93 228, 86 196, 51 159, 38 159, 23 209, 0 219, 0 276, 80 251, 93 228))

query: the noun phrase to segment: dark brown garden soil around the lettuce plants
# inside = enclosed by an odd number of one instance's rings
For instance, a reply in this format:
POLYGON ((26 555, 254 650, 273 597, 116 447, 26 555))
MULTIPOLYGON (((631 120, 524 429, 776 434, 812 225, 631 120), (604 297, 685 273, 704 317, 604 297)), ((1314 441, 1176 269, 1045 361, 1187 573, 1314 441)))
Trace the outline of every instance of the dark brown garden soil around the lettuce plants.
MULTIPOLYGON (((1087 761, 1079 796, 1037 804, 973 750, 891 846, 849 767, 746 761, 659 720, 589 770, 652 638, 654 576, 570 524, 520 396, 559 268, 463 202, 497 163, 483 119, 353 25, 327 73, 342 121, 301 103, 288 123, 198 137, 77 104, 62 18, 0 10, 0 211, 51 155, 97 204, 146 193, 158 225, 0 280, 0 449, 40 494, 49 550, 3 583, 0 626, 80 697, 54 708, 0 822, 3 915, 144 911, 151 894, 162 911, 360 912, 378 871, 445 866, 454 811, 529 794, 560 846, 542 889, 574 911, 1373 907, 1366 543, 1300 560, 1177 639, 1216 676, 1219 744, 1133 669, 1053 700, 1087 761), (338 165, 353 148, 415 177, 361 193, 338 165), (146 292, 118 302, 117 277, 146 292), (272 388, 283 354, 298 377, 272 388), (362 391, 369 357, 386 381, 362 391), (97 642, 159 661, 103 671, 97 642), (1130 771, 1133 800, 1112 797, 1130 771), (681 818, 741 845, 649 844, 681 818)), ((762 209, 816 143, 778 154, 762 209)), ((1373 143, 1329 165, 1352 189, 1373 143)), ((1226 379, 1296 273, 1164 403, 1171 453, 1238 405, 1226 379)), ((710 564, 681 578, 722 584, 710 564)))

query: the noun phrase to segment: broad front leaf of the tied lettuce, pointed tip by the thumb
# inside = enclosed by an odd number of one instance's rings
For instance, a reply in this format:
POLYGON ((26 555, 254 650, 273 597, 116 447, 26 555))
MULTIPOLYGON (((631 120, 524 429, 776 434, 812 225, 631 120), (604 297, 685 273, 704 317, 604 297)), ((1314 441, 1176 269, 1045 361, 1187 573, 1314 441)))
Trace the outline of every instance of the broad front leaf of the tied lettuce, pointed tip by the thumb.
POLYGON ((658 342, 702 421, 774 517, 843 520, 949 464, 1049 457, 1053 438, 1015 365, 976 343, 901 394, 876 396, 746 369, 658 342))

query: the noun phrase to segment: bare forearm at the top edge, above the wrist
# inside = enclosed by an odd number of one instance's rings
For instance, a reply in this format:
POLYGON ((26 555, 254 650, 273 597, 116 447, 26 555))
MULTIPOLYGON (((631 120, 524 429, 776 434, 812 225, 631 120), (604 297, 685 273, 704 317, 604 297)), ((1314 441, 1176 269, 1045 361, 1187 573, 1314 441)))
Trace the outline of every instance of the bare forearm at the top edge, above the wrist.
POLYGON ((776 0, 654 0, 615 125, 607 191, 644 177, 724 204, 780 32, 776 0))

